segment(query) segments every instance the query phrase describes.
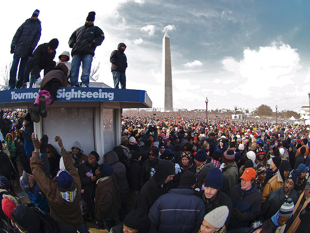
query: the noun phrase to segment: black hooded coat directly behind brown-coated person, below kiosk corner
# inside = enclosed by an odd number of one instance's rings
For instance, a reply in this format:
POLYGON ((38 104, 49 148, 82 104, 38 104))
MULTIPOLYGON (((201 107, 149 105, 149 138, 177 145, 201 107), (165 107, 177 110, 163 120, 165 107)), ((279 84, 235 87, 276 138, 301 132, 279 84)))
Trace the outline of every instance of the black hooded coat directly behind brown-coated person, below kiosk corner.
POLYGON ((113 168, 112 179, 120 188, 122 203, 127 203, 131 196, 124 164, 119 162, 117 153, 114 150, 111 150, 104 155, 104 161, 113 168))

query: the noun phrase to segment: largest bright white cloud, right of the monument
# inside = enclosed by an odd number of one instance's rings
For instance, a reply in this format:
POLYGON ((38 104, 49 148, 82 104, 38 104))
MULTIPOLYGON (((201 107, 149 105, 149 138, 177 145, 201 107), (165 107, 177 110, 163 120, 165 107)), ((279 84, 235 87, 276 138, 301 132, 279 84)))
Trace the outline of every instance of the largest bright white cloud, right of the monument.
POLYGON ((223 68, 234 73, 233 81, 241 84, 234 88, 233 92, 259 99, 262 98, 261 95, 248 90, 261 90, 264 97, 270 97, 274 88, 293 83, 292 79, 301 69, 299 54, 288 44, 278 44, 274 42, 271 46, 260 47, 259 50, 247 48, 240 62, 233 57, 222 61, 223 68))

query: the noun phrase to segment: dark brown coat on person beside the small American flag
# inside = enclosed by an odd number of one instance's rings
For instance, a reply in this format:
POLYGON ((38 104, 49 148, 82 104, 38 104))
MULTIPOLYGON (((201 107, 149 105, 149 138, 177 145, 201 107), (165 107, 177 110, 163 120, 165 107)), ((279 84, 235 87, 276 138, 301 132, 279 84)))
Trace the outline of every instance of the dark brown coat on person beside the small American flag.
POLYGON ((95 216, 97 219, 112 219, 121 209, 119 187, 110 176, 100 178, 96 182, 95 216))

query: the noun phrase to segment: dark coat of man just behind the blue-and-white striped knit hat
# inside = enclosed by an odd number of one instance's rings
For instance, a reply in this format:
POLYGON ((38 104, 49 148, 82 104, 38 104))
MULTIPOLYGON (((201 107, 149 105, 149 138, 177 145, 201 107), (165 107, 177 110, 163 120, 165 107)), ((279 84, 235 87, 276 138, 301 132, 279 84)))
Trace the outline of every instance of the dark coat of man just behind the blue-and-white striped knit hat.
MULTIPOLYGON (((292 199, 294 204, 298 200, 298 192, 293 188, 288 196, 288 198, 292 199)), ((275 191, 272 191, 268 194, 266 200, 263 202, 261 218, 269 219, 274 216, 281 205, 287 200, 284 193, 284 187, 278 188, 275 191)))

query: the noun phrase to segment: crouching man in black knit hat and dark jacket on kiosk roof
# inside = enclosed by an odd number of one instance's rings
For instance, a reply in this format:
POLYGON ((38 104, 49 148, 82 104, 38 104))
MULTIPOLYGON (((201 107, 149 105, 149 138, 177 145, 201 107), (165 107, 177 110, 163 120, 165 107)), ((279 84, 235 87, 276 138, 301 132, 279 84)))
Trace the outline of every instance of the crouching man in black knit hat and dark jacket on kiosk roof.
POLYGON ((47 72, 56 67, 56 62, 53 61, 53 59, 55 58, 58 44, 58 39, 54 38, 48 43, 39 45, 34 50, 33 57, 30 57, 27 61, 23 77, 23 86, 21 88, 26 88, 26 84, 29 82, 29 74, 31 74, 29 88, 32 88, 32 84, 40 78, 42 69, 44 69, 44 75, 46 75, 47 72))

